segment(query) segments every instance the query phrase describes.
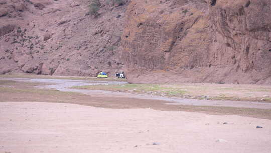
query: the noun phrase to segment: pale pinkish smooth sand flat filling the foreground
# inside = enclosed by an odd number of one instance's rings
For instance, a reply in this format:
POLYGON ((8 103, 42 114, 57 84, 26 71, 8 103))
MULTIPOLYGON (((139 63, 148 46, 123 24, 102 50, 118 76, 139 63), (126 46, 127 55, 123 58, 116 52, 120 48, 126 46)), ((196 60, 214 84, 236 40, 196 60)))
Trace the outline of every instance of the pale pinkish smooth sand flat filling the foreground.
POLYGON ((0 102, 0 152, 270 151, 271 120, 267 119, 0 102))

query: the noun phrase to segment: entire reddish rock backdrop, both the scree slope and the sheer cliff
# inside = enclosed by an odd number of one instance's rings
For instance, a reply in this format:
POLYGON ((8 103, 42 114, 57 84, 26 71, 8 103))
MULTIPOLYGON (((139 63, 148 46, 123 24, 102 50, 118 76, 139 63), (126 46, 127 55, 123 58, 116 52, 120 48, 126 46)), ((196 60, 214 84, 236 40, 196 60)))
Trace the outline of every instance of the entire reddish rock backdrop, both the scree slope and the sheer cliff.
POLYGON ((269 0, 0 0, 0 73, 271 85, 269 0))

